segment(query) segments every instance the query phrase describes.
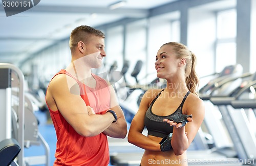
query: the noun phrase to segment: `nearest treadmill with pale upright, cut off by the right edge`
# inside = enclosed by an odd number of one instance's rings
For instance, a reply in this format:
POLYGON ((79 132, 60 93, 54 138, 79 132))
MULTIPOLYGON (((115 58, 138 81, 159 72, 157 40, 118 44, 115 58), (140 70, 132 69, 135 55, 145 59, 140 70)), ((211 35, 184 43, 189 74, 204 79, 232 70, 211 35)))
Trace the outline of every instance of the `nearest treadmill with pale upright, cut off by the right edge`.
MULTIPOLYGON (((238 109, 255 108, 256 73, 249 78, 245 79, 229 95, 215 95, 210 98, 210 101, 218 106, 222 119, 225 125, 228 126, 227 130, 231 136, 234 149, 238 153, 238 159, 243 164, 256 165, 254 162, 256 160, 256 137, 252 126, 249 124, 245 110, 238 109), (254 95, 254 99, 248 99, 249 92, 254 95)), ((253 110, 255 114, 255 109, 253 110)))

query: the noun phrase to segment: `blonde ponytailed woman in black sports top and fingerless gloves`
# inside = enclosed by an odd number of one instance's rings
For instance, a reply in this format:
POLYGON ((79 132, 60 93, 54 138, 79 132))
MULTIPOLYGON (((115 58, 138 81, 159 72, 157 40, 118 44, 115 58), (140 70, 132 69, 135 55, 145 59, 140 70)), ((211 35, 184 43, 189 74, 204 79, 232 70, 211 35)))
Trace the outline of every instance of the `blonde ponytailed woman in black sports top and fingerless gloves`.
POLYGON ((166 79, 167 86, 144 94, 128 134, 130 143, 145 149, 142 166, 187 165, 186 150, 204 119, 195 64, 195 54, 181 43, 165 43, 158 50, 157 77, 166 79))

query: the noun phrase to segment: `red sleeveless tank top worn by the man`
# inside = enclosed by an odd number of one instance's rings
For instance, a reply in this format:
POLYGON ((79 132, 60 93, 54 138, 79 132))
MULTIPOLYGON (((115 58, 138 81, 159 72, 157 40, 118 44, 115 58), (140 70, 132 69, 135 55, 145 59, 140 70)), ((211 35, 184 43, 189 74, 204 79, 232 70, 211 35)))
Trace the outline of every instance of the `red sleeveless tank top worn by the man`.
MULTIPOLYGON (((93 89, 82 84, 66 70, 60 70, 56 75, 58 74, 67 74, 78 82, 80 96, 87 105, 94 109, 96 114, 105 114, 105 111, 110 108, 111 93, 109 85, 104 79, 93 74, 97 82, 96 88, 93 89), (90 103, 88 99, 90 99, 90 103)), ((104 133, 91 137, 81 136, 63 118, 59 110, 53 111, 49 108, 49 111, 57 135, 54 165, 96 166, 109 164, 109 145, 104 133)))

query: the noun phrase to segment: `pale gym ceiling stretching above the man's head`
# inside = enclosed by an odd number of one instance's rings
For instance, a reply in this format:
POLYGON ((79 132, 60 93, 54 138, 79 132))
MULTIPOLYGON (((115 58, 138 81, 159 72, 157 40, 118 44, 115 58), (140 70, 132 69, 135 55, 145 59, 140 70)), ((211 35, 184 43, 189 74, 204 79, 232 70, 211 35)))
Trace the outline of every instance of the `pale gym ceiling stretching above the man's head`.
POLYGON ((34 0, 33 8, 6 16, 0 6, 0 62, 18 64, 34 52, 61 39, 79 25, 100 26, 124 18, 146 17, 150 9, 178 0, 126 0, 111 10, 119 0, 34 0))

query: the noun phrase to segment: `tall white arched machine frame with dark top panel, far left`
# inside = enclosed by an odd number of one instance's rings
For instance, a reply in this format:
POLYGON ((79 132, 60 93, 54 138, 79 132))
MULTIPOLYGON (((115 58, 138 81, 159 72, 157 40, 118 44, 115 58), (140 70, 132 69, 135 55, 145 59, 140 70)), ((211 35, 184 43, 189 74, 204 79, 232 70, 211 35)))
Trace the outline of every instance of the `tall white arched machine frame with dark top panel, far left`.
POLYGON ((25 165, 24 162, 24 75, 17 67, 11 64, 0 63, 1 72, 1 90, 0 97, 1 102, 1 115, 4 120, 0 120, 1 123, 1 138, 0 141, 5 139, 11 139, 11 73, 16 72, 19 78, 19 101, 18 101, 18 125, 20 126, 17 142, 21 147, 18 154, 18 164, 25 165))

